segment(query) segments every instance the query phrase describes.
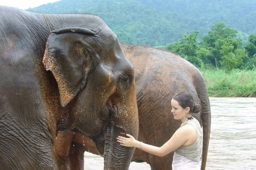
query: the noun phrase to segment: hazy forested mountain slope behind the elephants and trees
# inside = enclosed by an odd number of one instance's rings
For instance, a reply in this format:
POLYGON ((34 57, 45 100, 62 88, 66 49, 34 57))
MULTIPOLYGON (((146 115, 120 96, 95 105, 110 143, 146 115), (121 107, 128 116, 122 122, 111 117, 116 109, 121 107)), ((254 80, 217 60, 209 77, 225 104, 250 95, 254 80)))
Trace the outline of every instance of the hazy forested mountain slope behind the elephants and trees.
POLYGON ((62 0, 27 10, 96 14, 129 44, 166 45, 193 30, 200 39, 218 22, 238 30, 242 39, 256 34, 255 0, 62 0))

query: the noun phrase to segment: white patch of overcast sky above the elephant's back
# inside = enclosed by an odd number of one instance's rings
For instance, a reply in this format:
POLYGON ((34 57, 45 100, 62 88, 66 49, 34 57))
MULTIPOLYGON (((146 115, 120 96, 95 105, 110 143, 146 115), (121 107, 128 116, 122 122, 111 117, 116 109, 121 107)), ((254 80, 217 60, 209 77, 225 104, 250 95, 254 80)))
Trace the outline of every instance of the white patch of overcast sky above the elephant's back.
POLYGON ((19 9, 28 9, 38 7, 46 3, 53 3, 60 0, 1 0, 0 5, 15 7, 19 9))

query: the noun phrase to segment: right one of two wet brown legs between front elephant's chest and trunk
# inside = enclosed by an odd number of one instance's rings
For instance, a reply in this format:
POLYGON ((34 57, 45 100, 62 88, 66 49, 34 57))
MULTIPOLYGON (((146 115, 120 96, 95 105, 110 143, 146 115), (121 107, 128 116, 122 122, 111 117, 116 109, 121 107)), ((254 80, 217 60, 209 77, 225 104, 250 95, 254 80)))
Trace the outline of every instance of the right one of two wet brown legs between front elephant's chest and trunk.
POLYGON ((71 149, 69 152, 70 170, 84 170, 84 151, 71 149))

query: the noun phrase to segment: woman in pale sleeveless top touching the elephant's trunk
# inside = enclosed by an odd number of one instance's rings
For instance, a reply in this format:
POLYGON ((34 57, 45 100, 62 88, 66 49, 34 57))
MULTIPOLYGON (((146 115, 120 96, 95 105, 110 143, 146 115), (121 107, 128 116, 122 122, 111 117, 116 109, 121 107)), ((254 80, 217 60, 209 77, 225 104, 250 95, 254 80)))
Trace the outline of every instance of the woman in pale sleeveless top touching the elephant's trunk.
POLYGON ((181 120, 181 126, 171 139, 161 147, 144 144, 129 138, 118 136, 117 142, 122 146, 136 147, 156 156, 165 156, 174 151, 173 170, 199 170, 199 161, 202 155, 202 131, 199 122, 192 117, 192 113, 200 112, 200 105, 195 104, 191 94, 177 93, 171 100, 174 119, 181 120))

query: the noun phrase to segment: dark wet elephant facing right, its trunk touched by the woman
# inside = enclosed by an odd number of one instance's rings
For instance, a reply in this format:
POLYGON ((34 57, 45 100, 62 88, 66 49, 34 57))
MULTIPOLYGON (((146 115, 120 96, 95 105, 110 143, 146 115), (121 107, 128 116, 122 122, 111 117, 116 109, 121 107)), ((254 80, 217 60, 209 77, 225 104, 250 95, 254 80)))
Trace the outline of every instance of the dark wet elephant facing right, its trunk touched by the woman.
POLYGON ((0 169, 57 169, 54 139, 70 131, 106 153, 104 170, 127 170, 135 149, 115 139, 138 137, 138 109, 116 34, 91 14, 0 11, 0 169))

